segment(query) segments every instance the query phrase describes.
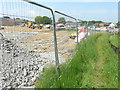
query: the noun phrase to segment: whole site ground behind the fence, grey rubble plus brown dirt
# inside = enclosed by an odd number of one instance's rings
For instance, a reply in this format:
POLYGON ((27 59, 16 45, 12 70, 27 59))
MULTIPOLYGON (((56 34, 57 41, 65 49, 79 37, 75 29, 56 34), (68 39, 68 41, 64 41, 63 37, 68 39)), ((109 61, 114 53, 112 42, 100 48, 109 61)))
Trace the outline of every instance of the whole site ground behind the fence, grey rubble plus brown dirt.
MULTIPOLYGON (((56 31, 60 64, 75 52, 76 43, 70 39, 76 31, 56 31)), ((44 68, 55 65, 52 29, 26 26, 4 26, 0 30, 2 87, 34 87, 44 68), (6 67, 4 67, 6 66, 6 67)))

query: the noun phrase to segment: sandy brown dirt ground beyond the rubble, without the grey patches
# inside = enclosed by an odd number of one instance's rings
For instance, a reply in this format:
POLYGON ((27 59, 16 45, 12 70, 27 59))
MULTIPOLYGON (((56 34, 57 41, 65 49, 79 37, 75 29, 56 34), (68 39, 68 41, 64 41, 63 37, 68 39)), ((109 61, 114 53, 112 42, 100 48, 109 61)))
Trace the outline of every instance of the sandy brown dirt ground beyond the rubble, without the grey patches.
MULTIPOLYGON (((5 27, 4 31, 15 31, 15 32, 38 32, 36 36, 26 38, 21 43, 16 43, 18 46, 22 46, 29 51, 43 53, 54 51, 54 35, 50 29, 31 29, 28 27, 5 27)), ((70 39, 69 36, 75 31, 56 31, 58 52, 67 59, 70 57, 72 50, 75 48, 75 40, 70 39)), ((74 51, 74 50, 73 50, 74 51)))

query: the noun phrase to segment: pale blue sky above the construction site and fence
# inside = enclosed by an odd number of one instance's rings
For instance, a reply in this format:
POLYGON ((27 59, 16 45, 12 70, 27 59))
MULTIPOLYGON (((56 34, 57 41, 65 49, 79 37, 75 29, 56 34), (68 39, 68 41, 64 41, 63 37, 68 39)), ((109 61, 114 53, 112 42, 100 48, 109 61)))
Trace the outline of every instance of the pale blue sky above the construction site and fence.
MULTIPOLYGON (((26 5, 15 3, 20 0, 0 0, 1 13, 16 14, 20 16, 38 16, 47 15, 47 10, 39 7, 33 7, 33 5, 26 5), (12 4, 11 2, 14 2, 12 4), (2 7, 3 6, 3 7, 2 7), (9 9, 8 9, 9 8, 9 9), (20 12, 20 10, 22 12, 20 12)), ((39 4, 48 6, 54 10, 61 11, 73 17, 81 20, 101 20, 105 22, 117 22, 118 21, 118 1, 119 0, 32 0, 39 4)), ((51 16, 50 16, 51 17, 51 16)))

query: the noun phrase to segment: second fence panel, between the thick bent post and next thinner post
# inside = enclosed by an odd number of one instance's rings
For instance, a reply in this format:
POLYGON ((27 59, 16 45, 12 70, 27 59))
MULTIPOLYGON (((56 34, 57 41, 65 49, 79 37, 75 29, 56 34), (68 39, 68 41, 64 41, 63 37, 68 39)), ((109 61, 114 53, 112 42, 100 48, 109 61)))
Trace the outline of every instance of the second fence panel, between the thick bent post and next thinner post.
MULTIPOLYGON (((58 55, 71 60, 77 51, 76 19, 55 11, 58 55)), ((60 57, 59 56, 59 57, 60 57)))

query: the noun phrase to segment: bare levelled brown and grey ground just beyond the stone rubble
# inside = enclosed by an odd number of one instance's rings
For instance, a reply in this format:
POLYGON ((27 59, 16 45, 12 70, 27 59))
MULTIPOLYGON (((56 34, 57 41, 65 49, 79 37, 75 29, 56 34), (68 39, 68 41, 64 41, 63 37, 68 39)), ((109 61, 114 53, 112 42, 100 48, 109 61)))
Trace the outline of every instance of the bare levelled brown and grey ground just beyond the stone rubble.
MULTIPOLYGON (((74 39, 70 39, 69 36, 76 31, 57 31, 58 49, 60 52, 67 53, 75 48, 74 39)), ((5 27, 0 30, 0 33, 4 37, 13 41, 17 46, 26 48, 31 52, 51 52, 54 51, 54 36, 53 30, 31 29, 28 27, 5 27)), ((65 55, 66 56, 66 55, 65 55)), ((69 55, 68 55, 69 56, 69 55)), ((66 56, 66 57, 68 57, 66 56)))

